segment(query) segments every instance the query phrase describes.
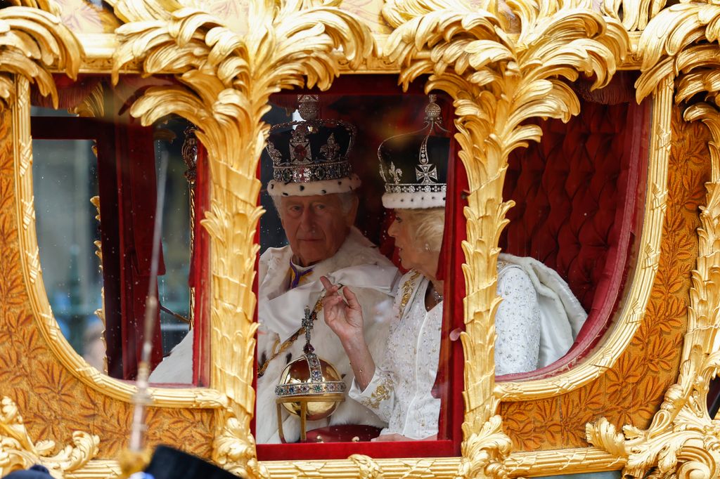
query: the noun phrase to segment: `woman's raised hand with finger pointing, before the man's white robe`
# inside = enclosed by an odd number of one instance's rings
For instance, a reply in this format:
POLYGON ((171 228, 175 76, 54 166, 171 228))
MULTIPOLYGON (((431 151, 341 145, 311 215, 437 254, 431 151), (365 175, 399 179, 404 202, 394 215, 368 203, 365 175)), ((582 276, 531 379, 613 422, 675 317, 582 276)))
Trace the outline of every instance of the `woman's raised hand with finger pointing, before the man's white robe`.
POLYGON ((323 298, 325 323, 338 335, 343 343, 362 339, 362 308, 355 293, 350 288, 345 287, 341 295, 338 291, 340 286, 330 283, 327 277, 320 277, 320 281, 326 291, 323 298))

